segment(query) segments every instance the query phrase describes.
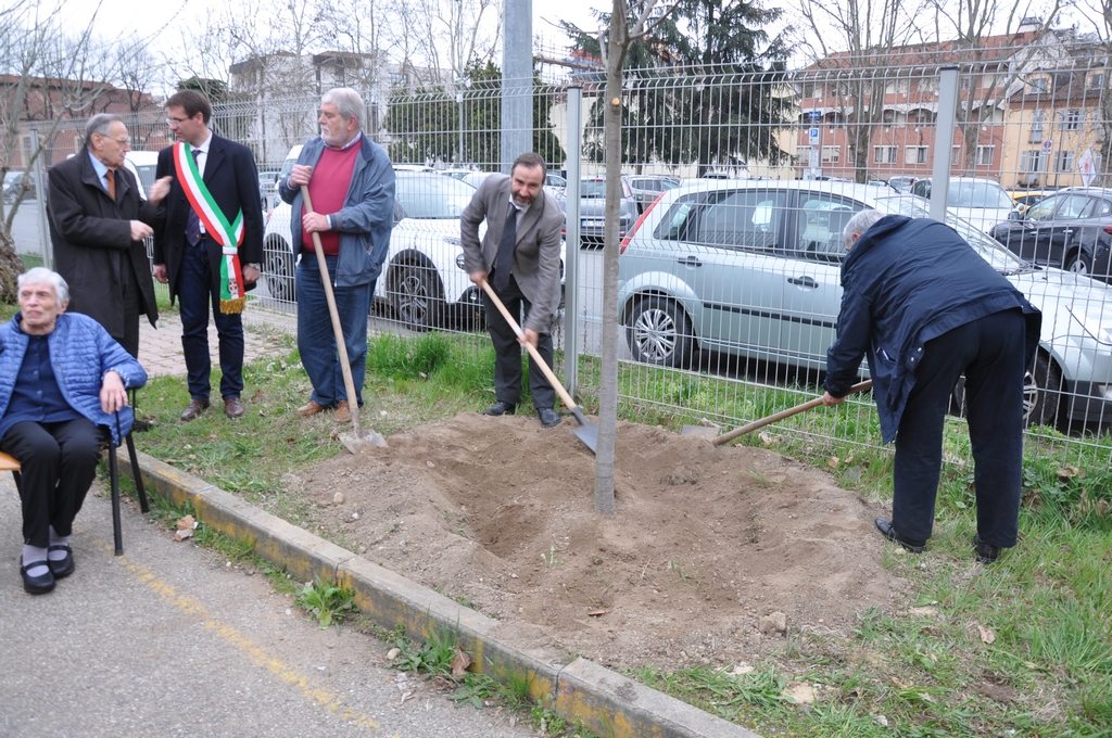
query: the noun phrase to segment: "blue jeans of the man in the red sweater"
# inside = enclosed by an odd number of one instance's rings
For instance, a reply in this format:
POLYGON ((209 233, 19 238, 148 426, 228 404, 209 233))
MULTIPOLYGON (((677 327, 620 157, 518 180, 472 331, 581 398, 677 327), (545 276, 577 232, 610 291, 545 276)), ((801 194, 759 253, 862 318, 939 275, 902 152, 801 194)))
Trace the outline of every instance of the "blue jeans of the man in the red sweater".
MULTIPOLYGON (((325 256, 328 272, 334 285, 336 313, 344 331, 351 366, 351 383, 355 385, 356 401, 363 406, 363 383, 367 375, 367 316, 370 313, 370 296, 375 293, 375 282, 358 287, 335 287, 336 261, 339 257, 325 256)), ((340 366, 336 348, 336 333, 328 312, 325 286, 320 281, 317 255, 302 252, 297 265, 297 350, 301 355, 301 366, 312 382, 312 401, 326 408, 340 400, 350 401, 344 386, 344 368, 340 366)))

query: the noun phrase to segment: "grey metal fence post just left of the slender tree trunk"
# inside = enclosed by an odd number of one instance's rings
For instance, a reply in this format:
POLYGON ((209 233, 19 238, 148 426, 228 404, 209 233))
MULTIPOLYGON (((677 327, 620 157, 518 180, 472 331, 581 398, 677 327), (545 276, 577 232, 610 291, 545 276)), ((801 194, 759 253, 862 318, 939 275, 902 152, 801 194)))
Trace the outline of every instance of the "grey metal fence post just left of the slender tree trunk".
POLYGON ((564 386, 572 397, 579 383, 579 177, 583 169, 583 88, 567 89, 567 188, 564 191, 564 386))

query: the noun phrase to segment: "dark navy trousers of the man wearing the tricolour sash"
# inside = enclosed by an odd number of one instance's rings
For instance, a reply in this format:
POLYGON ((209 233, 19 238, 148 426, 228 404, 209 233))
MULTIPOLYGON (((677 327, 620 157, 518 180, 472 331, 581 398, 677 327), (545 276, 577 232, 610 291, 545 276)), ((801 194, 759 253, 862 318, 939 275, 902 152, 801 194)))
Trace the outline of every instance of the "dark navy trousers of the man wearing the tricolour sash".
POLYGON ((239 397, 244 391, 244 321, 239 315, 220 312, 219 275, 212 275, 208 255, 209 237, 200 246, 186 246, 178 278, 178 306, 181 309, 181 349, 186 355, 189 397, 209 399, 208 351, 209 307, 220 337, 220 397, 239 397))

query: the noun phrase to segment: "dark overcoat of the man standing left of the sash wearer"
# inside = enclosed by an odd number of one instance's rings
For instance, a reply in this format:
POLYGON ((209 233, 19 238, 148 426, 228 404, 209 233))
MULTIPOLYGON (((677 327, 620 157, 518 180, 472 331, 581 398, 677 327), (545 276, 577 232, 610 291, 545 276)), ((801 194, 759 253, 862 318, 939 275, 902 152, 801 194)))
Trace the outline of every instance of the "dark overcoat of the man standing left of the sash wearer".
POLYGON ((131 240, 132 220, 155 223, 155 208, 139 197, 131 172, 116 171, 116 201, 108 197, 89 152, 54 164, 50 170, 47 210, 54 269, 70 289, 69 310, 105 327, 109 336, 123 332, 125 268, 133 268, 142 296, 140 312, 153 326, 158 320, 155 282, 142 241, 131 240), (128 262, 130 261, 130 267, 128 262))

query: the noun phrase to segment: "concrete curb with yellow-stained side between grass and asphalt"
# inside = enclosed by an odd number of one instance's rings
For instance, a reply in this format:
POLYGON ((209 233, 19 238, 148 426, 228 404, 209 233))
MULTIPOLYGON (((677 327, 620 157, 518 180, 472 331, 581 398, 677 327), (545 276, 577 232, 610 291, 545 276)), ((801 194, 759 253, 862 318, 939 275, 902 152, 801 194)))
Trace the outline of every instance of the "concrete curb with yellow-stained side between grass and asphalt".
MULTIPOLYGON (((639 685, 597 664, 577 658, 562 665, 518 649, 497 636, 498 621, 365 558, 291 526, 235 495, 139 453, 147 489, 182 505, 189 502, 205 525, 235 540, 249 540, 255 552, 285 566, 299 581, 315 576, 355 590, 359 610, 380 627, 403 624, 406 632, 425 639, 437 631, 457 631, 471 657, 471 670, 499 681, 525 680, 529 695, 569 721, 607 738, 761 738, 686 702, 639 685)), ((120 466, 130 463, 127 457, 120 466)))

